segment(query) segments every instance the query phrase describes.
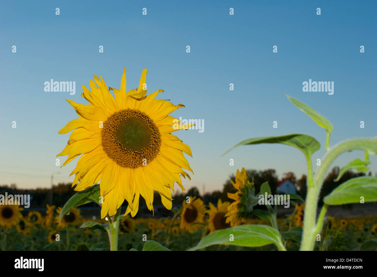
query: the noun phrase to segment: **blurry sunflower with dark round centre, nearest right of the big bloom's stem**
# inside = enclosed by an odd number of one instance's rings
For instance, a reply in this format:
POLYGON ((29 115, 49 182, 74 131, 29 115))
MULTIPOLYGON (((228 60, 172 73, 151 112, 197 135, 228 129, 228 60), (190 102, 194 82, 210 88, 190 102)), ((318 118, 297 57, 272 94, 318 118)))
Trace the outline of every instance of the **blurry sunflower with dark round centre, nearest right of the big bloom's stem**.
POLYGON ((179 228, 187 230, 190 233, 203 228, 202 224, 195 224, 204 223, 203 219, 207 210, 202 199, 196 198, 196 196, 191 197, 190 203, 187 204, 186 200, 184 200, 182 206, 183 210, 179 228))

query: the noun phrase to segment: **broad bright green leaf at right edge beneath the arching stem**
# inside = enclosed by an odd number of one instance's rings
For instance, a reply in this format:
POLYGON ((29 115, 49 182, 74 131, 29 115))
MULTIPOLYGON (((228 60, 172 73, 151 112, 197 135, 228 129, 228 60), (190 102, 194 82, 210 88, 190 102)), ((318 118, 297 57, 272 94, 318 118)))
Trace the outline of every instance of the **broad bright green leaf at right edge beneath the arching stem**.
POLYGON ((364 202, 377 201, 377 177, 349 179, 323 198, 323 202, 328 205, 360 203, 360 197, 364 197, 364 202))

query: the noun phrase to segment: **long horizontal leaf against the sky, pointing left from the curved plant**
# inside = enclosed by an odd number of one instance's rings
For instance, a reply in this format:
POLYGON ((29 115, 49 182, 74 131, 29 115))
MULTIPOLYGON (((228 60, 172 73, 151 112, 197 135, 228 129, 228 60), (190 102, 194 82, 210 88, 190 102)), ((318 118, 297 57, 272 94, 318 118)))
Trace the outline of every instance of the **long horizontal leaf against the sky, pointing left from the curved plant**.
POLYGON ((282 143, 282 144, 291 145, 296 148, 299 148, 305 154, 307 158, 310 158, 311 155, 320 148, 319 142, 311 136, 302 135, 302 134, 291 134, 291 135, 285 135, 285 136, 266 136, 266 137, 261 137, 261 138, 245 139, 244 141, 241 141, 238 144, 234 145, 232 148, 227 150, 222 155, 225 155, 230 150, 240 145, 259 144, 259 143, 282 143))

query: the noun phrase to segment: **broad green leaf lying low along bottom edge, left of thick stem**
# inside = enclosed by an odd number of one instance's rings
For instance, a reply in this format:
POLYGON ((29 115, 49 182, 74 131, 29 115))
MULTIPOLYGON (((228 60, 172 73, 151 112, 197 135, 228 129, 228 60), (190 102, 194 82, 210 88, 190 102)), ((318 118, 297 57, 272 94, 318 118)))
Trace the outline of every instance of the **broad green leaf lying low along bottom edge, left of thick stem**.
POLYGON ((240 225, 233 228, 217 230, 202 238, 190 251, 215 244, 257 247, 274 243, 284 249, 279 231, 267 225, 240 225))

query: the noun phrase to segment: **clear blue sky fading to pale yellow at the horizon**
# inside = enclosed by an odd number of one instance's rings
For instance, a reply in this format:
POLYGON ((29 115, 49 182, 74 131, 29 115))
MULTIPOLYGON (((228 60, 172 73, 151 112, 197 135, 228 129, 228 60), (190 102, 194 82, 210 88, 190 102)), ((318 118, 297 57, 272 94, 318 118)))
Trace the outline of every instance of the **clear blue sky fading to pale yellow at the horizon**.
MULTIPOLYGON (((203 184, 206 191, 221 189, 242 167, 300 177, 307 172, 305 158, 287 145, 247 145, 221 154, 246 138, 305 133, 322 145, 313 162, 322 158, 325 130, 284 93, 332 122, 331 145, 376 137, 376 8, 375 1, 3 2, 0 184, 49 187, 57 172, 54 184, 72 182, 68 176, 78 158, 61 169, 55 165, 69 137, 58 130, 77 118, 64 99, 86 104, 81 85, 89 88, 94 74, 119 88, 123 67, 127 89, 138 86, 146 67, 149 93, 164 89, 159 98, 185 105, 173 116, 204 120, 202 133, 175 132, 193 153, 187 159, 194 175, 184 180, 186 189, 201 191, 203 184), (50 79, 75 81, 76 94, 44 92, 50 79), (334 81, 334 94, 303 92, 309 79, 334 81)), ((334 165, 355 158, 363 153, 345 153, 334 165)), ((377 173, 377 158, 371 157, 369 168, 377 173)))

